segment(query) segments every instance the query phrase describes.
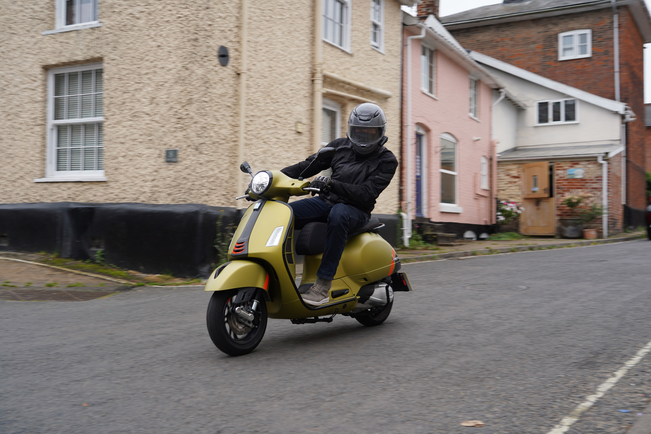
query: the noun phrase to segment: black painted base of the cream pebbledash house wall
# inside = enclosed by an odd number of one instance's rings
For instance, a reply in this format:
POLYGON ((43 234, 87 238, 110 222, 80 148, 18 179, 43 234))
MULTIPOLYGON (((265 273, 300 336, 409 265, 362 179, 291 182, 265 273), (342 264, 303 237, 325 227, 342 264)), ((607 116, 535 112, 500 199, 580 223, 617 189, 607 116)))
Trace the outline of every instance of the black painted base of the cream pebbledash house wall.
MULTIPOLYGON (((201 204, 0 204, 0 252, 46 251, 88 260, 102 251, 105 264, 205 278, 218 262, 219 247, 227 249, 242 214, 201 204)), ((373 217, 387 225, 380 235, 395 245, 398 218, 373 217)))

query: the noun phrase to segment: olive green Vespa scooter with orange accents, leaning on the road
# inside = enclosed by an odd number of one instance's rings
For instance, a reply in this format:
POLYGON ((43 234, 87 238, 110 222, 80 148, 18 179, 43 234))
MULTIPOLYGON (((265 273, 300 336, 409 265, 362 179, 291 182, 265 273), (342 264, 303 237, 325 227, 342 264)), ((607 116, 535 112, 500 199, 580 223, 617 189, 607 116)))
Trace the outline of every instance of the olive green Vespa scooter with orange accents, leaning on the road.
MULTIPOLYGON (((334 152, 334 148, 322 148, 312 163, 334 152)), ((253 179, 249 194, 238 199, 248 196, 256 202, 245 211, 230 242, 229 262, 215 269, 204 289, 213 292, 206 321, 210 338, 221 351, 230 355, 253 351, 264 336, 268 318, 305 324, 331 322, 333 316, 342 314, 363 325, 379 325, 391 312, 393 292, 412 290, 406 273, 399 271, 396 252, 376 233, 384 225, 370 219, 367 226, 348 234, 329 303, 303 303, 301 294, 316 280, 327 225, 305 225, 295 243, 294 213, 287 202, 292 196, 318 189, 279 170, 262 170, 253 176, 246 162, 240 169, 253 179), (299 286, 295 282, 296 254, 305 255, 299 286)))

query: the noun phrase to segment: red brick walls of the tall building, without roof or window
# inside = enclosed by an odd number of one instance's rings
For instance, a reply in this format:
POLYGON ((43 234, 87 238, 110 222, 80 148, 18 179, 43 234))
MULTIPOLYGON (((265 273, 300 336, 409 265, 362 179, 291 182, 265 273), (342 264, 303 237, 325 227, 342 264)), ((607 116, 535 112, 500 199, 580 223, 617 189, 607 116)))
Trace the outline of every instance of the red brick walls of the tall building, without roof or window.
MULTIPOLYGON (((618 8, 620 25, 620 94, 637 120, 627 126, 626 202, 643 209, 645 199, 645 146, 643 101, 643 40, 628 7, 618 8)), ((615 99, 613 64, 613 12, 610 8, 535 20, 450 31, 467 49, 473 49, 519 68, 587 92, 615 99), (559 61, 558 34, 592 30, 592 57, 559 61)), ((651 141, 651 139, 648 139, 651 141)), ((651 167, 651 163, 646 163, 651 167)))

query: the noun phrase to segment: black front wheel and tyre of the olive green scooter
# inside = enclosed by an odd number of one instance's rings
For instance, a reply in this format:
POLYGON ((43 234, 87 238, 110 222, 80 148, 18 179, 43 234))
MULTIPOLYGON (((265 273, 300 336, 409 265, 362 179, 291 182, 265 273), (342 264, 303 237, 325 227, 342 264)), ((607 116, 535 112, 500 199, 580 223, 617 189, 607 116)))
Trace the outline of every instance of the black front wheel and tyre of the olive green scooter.
MULTIPOLYGON (((208 312, 206 312, 206 323, 208 323, 208 334, 210 339, 224 353, 232 356, 241 356, 251 353, 255 347, 260 344, 262 336, 267 329, 267 304, 261 299, 256 308, 256 319, 253 323, 257 327, 250 328, 246 334, 238 335, 230 327, 230 321, 234 321, 235 314, 232 313, 231 299, 236 295, 236 291, 215 291, 210 297, 208 303, 208 312), (230 318, 229 318, 230 317, 230 318)), ((253 298, 249 302, 249 305, 253 298)), ((236 321, 236 325, 242 325, 236 321)), ((242 329, 246 330, 246 327, 242 329)))

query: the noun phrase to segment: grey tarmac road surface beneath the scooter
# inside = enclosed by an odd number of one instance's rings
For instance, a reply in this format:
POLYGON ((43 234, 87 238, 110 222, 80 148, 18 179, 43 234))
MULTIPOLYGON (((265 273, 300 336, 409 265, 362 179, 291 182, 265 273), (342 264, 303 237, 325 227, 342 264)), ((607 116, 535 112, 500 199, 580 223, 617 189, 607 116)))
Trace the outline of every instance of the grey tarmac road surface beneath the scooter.
MULTIPOLYGON (((0 432, 547 434, 651 342, 651 241, 403 270, 380 327, 270 320, 243 357, 202 288, 0 300, 0 432)), ((647 353, 566 432, 626 433, 650 396, 647 353)))

